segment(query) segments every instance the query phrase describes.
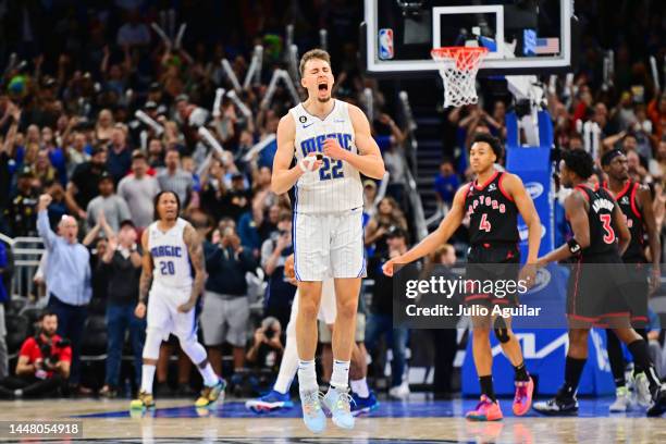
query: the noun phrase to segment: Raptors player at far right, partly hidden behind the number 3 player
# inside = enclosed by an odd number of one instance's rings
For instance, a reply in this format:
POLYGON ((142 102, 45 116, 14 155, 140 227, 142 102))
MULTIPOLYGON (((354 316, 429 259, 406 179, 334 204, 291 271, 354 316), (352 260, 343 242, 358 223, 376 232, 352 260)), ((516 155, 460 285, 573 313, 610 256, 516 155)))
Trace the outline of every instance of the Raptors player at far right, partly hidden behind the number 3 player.
MULTIPOLYGON (((654 211, 652 210, 652 196, 650 189, 631 181, 627 157, 619 149, 607 151, 602 157, 602 168, 608 176, 604 188, 608 190, 617 201, 622 214, 627 220, 627 227, 631 234, 631 240, 622 255, 622 262, 632 263, 630 278, 636 278, 636 292, 631 297, 632 317, 631 322, 638 334, 648 341, 648 332, 644 322, 648 320, 648 295, 653 293, 659 285, 662 271, 659 267, 662 243, 656 230, 654 211), (645 257, 644 235, 648 234, 650 252, 652 256, 652 274, 648 283, 648 258, 645 257), (641 328, 638 328, 641 325, 641 328)), ((610 370, 615 380, 616 399, 610 405, 610 411, 627 411, 630 408, 630 396, 625 380, 625 357, 619 340, 613 330, 606 330, 606 350, 610 361, 610 370)), ((634 368, 634 370, 637 370, 634 368)), ((650 384, 645 373, 638 373, 634 378, 637 387, 637 402, 642 407, 649 407, 651 402, 650 384)))

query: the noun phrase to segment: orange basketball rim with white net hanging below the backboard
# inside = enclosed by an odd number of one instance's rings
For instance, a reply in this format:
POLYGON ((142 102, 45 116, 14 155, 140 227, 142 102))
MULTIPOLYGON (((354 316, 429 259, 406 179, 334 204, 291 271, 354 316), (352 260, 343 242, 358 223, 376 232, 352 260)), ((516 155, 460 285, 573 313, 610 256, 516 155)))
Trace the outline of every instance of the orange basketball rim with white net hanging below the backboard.
POLYGON ((477 102, 474 81, 486 53, 484 47, 444 47, 430 51, 444 81, 444 108, 477 102))

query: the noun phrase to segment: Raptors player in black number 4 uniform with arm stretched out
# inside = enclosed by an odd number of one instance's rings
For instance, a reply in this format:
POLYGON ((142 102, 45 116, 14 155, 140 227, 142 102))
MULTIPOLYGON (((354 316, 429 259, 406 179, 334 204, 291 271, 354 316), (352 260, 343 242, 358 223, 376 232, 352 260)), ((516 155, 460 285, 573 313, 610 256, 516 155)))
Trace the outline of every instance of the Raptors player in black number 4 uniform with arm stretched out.
MULTIPOLYGON (((519 276, 520 251, 518 250, 517 218, 520 213, 529 229, 528 266, 520 272, 520 279, 526 282, 526 286, 533 285, 534 267, 532 264, 536 262, 539 252, 541 222, 520 177, 495 169, 494 164, 502 158, 502 145, 495 137, 489 134, 479 134, 474 137, 469 149, 469 160, 477 176, 476 181, 458 189, 454 196, 451 211, 433 233, 406 254, 384 264, 385 274, 393 275, 393 267, 396 263, 414 262, 445 244, 468 214, 471 247, 468 255, 466 280, 494 278, 515 281, 519 276), (481 264, 488 263, 497 266, 490 270, 481 268, 481 264)), ((494 305, 515 305, 517 303, 515 295, 510 298, 499 298, 492 294, 480 294, 480 292, 467 295, 465 301, 489 308, 494 305)), ((481 400, 474 410, 467 414, 467 419, 496 421, 503 418, 493 388, 491 325, 494 325, 502 349, 515 369, 514 414, 525 415, 532 402, 534 384, 526 370, 518 340, 510 329, 510 319, 494 319, 490 314, 486 317, 472 316, 472 351, 481 384, 481 400)))

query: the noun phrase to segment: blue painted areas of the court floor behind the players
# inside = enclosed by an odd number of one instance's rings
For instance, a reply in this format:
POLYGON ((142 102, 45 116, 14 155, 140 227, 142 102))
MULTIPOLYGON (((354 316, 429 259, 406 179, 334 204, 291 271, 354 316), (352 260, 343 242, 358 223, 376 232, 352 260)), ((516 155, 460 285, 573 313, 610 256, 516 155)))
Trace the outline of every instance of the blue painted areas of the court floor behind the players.
MULTIPOLYGON (((542 400, 542 399, 538 399, 542 400)), ((580 418, 643 418, 644 411, 630 411, 621 415, 608 414, 608 406, 613 403, 613 398, 595 398, 595 399, 579 399, 580 418)), ((377 410, 372 411, 370 417, 377 418, 462 418, 465 412, 474 408, 476 399, 454 399, 454 400, 381 400, 377 410)), ((159 405, 159 400, 158 400, 159 405)), ((499 405, 505 418, 513 417, 511 399, 499 399, 499 405)), ((140 414, 139 414, 140 415, 140 414)), ((300 418, 300 408, 295 407, 291 410, 282 410, 270 414, 256 415, 245 409, 243 402, 224 403, 214 406, 210 409, 197 409, 192 405, 183 407, 158 408, 153 411, 147 411, 144 416, 155 418, 198 418, 198 417, 217 417, 217 418, 300 418)), ((132 415, 130 410, 107 411, 101 414, 88 414, 76 416, 76 418, 128 418, 132 415)), ((541 415, 531 410, 527 416, 541 417, 541 415)), ((523 417, 523 418, 526 418, 523 417)))

